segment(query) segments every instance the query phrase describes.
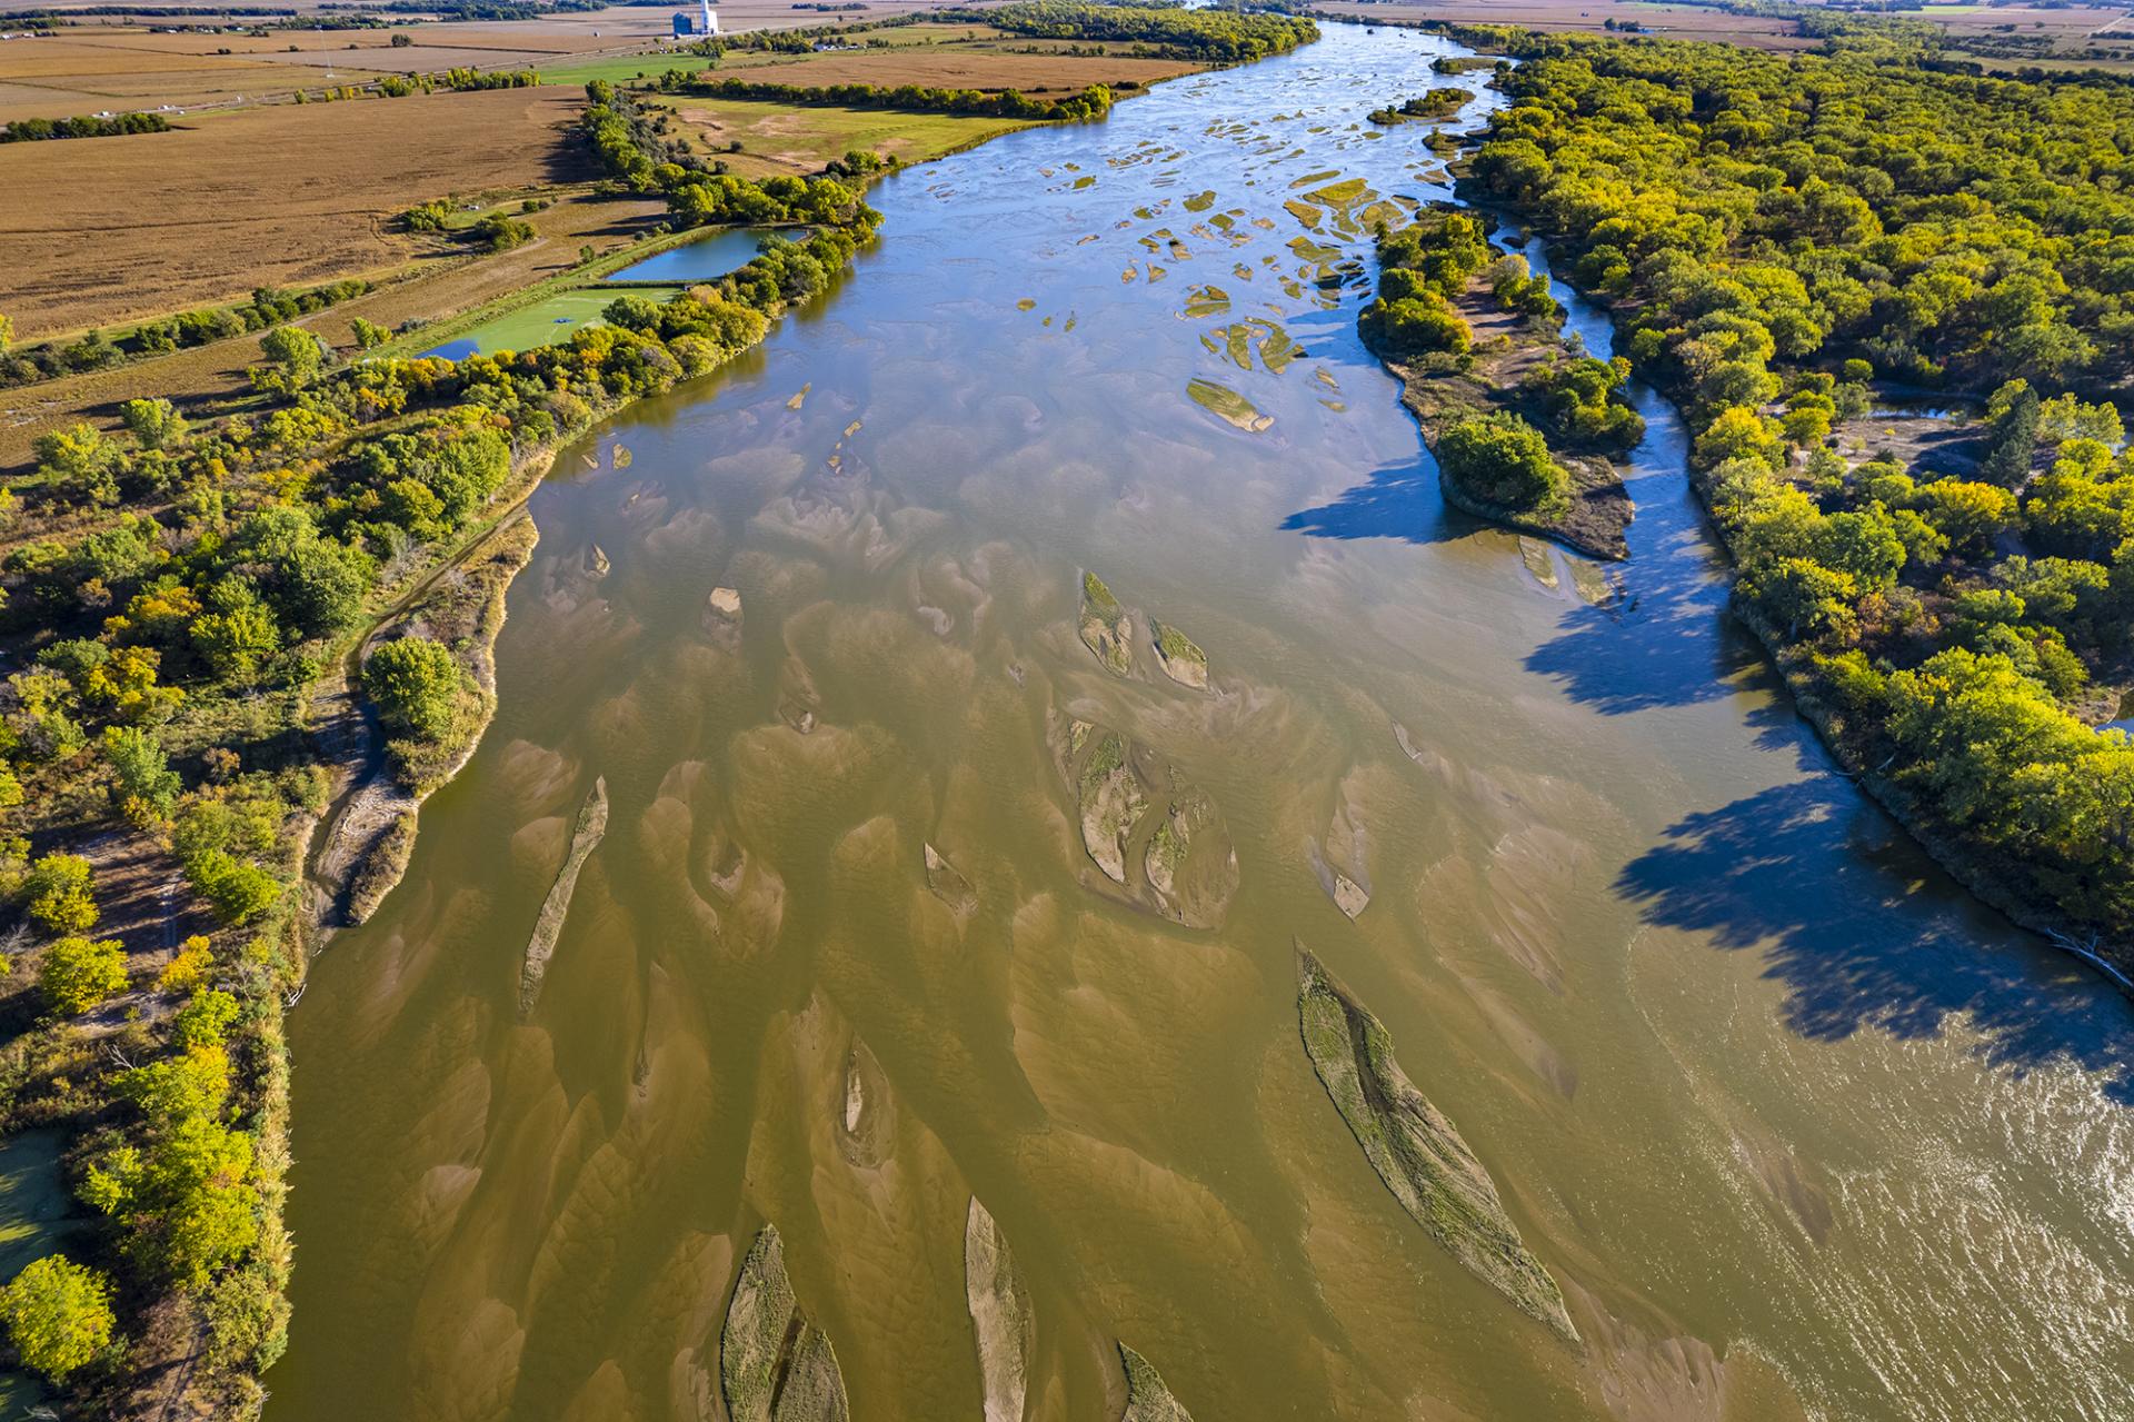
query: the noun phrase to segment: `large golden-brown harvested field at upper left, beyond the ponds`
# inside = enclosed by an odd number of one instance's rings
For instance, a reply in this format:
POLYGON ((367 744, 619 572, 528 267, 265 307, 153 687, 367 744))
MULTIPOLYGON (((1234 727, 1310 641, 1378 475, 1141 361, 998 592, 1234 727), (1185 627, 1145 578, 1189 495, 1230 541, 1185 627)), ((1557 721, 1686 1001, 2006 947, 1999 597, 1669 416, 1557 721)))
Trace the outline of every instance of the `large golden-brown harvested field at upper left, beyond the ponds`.
POLYGON ((433 196, 591 177, 568 88, 271 105, 175 132, 0 147, 0 310, 21 337, 109 327, 410 260, 433 196))

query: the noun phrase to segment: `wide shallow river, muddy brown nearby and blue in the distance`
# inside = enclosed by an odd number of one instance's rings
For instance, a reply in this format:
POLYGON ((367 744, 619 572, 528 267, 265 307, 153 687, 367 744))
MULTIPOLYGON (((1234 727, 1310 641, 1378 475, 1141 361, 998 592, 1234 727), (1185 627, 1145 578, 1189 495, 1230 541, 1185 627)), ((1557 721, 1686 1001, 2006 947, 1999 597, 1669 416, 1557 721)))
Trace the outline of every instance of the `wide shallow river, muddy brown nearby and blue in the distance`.
POLYGON ((854 1418, 980 1418, 973 1196, 1031 1418, 1116 1418, 1116 1341, 1199 1422, 2130 1416, 2128 1006, 1833 773, 1665 406, 1603 574, 1451 515, 1357 346, 1374 205, 1445 196, 1364 115, 1449 51, 892 179, 839 293, 563 457, 495 726, 292 1016, 273 1422, 721 1416, 764 1223, 854 1418), (1579 1343, 1372 1174, 1297 944, 1579 1343))

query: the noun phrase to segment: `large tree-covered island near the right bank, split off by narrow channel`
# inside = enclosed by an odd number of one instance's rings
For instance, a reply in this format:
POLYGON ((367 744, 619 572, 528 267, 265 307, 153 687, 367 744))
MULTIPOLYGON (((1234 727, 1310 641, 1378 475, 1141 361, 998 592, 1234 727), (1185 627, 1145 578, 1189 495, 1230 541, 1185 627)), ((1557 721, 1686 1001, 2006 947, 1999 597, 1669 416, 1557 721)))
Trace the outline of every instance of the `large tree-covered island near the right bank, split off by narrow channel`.
POLYGON ((1400 378, 1449 504, 1624 559, 1635 510, 1609 455, 1645 421, 1624 399, 1628 361, 1566 342, 1562 316, 1547 278, 1496 252, 1477 216, 1426 207, 1379 235, 1379 295, 1357 327, 1400 378))

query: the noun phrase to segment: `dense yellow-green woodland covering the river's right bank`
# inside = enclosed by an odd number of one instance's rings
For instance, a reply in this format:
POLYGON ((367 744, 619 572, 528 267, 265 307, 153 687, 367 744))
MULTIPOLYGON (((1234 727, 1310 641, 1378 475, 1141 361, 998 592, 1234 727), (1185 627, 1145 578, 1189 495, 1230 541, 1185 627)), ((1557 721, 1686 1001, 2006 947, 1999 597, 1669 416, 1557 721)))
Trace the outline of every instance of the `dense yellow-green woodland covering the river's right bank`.
POLYGON ((2123 950, 2134 747, 2091 724, 2134 651, 2134 90, 1842 36, 1498 36, 1526 62, 1472 181, 1684 406, 1737 604, 1846 758, 1991 897, 2123 950), (1985 399, 1974 457, 1835 453, 1906 393, 1985 399))

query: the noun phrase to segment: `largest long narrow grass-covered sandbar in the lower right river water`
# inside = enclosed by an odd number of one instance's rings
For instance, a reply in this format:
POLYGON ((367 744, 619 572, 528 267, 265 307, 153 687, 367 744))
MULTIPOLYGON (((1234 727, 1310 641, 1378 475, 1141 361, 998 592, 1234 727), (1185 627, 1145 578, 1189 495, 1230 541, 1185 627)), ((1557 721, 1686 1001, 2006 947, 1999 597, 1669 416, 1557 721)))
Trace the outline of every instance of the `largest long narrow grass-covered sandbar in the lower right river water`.
POLYGON ((1475 1277, 1575 1343, 1562 1290, 1519 1238, 1490 1172, 1394 1061, 1379 1018, 1302 946, 1297 1023, 1319 1083, 1400 1206, 1475 1277))

